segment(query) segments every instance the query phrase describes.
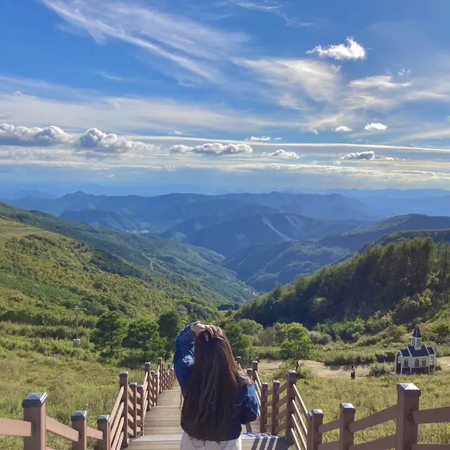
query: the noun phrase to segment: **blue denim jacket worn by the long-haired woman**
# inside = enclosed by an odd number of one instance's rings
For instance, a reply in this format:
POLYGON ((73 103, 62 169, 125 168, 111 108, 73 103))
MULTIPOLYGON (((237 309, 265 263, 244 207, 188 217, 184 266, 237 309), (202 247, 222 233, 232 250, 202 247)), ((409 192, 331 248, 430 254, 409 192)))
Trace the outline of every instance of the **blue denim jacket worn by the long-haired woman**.
MULTIPOLYGON (((188 325, 184 330, 181 330, 175 340, 174 371, 181 390, 186 387, 193 371, 194 337, 191 325, 188 325)), ((255 386, 252 384, 244 385, 240 388, 236 401, 236 413, 229 420, 229 430, 226 439, 223 440, 238 439, 242 429, 241 424, 256 420, 258 412, 259 406, 255 386)), ((181 421, 181 428, 183 428, 183 421, 181 421)))

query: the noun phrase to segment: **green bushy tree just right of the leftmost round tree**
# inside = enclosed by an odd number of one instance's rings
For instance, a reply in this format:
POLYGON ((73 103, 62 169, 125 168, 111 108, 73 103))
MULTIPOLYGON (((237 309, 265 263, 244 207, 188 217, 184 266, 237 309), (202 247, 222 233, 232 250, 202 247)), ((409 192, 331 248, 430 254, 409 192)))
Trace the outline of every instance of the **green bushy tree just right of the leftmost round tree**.
POLYGON ((131 322, 124 339, 124 346, 129 349, 141 349, 144 359, 155 361, 165 354, 166 338, 161 338, 158 323, 139 319, 131 322))

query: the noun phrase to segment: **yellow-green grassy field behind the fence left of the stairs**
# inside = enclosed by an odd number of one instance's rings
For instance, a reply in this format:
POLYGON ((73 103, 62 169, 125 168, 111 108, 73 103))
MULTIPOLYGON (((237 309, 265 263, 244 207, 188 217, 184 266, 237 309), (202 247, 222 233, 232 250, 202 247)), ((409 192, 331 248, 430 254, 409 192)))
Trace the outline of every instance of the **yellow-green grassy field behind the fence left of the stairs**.
MULTIPOLYGON (((93 428, 97 426, 98 414, 111 412, 121 369, 56 356, 19 350, 0 354, 0 417, 23 418, 21 404, 29 392, 48 392, 48 415, 66 425, 70 425, 70 417, 77 410, 88 411, 88 425, 93 428)), ((143 368, 123 370, 129 371, 130 381, 142 383, 143 368)), ((71 448, 68 442, 53 435, 49 435, 47 445, 58 450, 71 448)), ((0 449, 22 450, 23 439, 0 436, 0 449)))

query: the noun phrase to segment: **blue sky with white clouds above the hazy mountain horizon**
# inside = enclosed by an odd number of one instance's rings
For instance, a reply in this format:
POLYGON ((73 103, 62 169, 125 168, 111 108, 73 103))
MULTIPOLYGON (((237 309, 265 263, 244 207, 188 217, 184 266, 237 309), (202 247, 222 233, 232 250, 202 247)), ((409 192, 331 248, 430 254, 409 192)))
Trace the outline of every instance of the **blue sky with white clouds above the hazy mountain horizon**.
POLYGON ((2 0, 0 179, 450 186, 450 3, 2 0))

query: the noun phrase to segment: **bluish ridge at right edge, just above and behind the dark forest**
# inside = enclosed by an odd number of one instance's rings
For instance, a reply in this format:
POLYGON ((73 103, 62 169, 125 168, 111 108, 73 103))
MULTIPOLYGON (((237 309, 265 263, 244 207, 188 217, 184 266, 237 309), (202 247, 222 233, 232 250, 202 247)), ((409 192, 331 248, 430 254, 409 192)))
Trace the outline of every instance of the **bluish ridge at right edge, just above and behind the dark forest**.
POLYGON ((406 214, 390 217, 371 226, 327 236, 319 240, 319 245, 359 250, 369 243, 374 243, 386 234, 404 230, 442 230, 450 228, 450 217, 425 216, 423 214, 406 214))

